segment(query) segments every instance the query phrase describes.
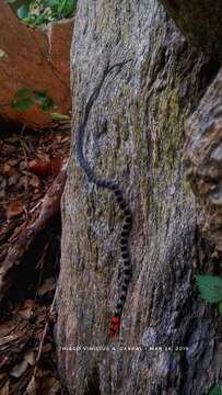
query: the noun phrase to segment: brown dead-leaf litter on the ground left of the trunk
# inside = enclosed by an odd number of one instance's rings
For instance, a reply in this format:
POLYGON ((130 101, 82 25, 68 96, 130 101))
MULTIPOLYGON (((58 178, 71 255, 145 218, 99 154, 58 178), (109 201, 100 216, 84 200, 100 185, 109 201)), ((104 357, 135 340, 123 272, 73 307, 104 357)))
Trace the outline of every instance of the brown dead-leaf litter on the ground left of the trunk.
POLYGON ((12 253, 21 235, 39 223, 44 198, 69 157, 70 125, 61 126, 26 131, 0 125, 0 395, 66 393, 54 342, 60 213, 32 244, 23 237, 20 259, 13 261, 12 253), (1 280, 5 267, 7 287, 1 280))

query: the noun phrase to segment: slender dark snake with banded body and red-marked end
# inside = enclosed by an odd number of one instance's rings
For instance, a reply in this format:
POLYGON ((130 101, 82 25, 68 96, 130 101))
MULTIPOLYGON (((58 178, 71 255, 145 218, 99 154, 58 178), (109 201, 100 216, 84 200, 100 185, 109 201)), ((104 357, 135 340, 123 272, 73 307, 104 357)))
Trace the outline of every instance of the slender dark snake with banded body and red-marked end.
POLYGON ((118 206, 119 206, 120 211, 122 212, 124 218, 125 218, 125 223, 121 228, 121 237, 120 237, 121 258, 124 261, 124 275, 122 275, 120 295, 118 297, 115 314, 112 318, 112 323, 109 326, 109 336, 110 337, 117 336, 119 332, 120 317, 121 317, 124 304, 126 302, 126 296, 127 296, 127 291, 128 291, 128 286, 130 283, 130 279, 132 275, 130 253, 129 253, 129 234, 130 234, 130 230, 132 227, 132 213, 129 208, 129 205, 125 201, 122 192, 121 192, 120 188, 118 187, 118 184, 116 182, 107 180, 107 179, 97 178, 96 174, 91 169, 90 163, 84 156, 84 134, 85 134, 85 128, 87 125, 91 109, 93 106, 93 103, 98 98, 101 88, 104 83, 106 76, 116 67, 119 68, 119 70, 120 70, 121 67, 124 65, 126 65, 126 63, 127 61, 120 63, 120 64, 115 64, 112 67, 109 67, 109 65, 106 66, 100 84, 95 88, 95 90, 91 94, 91 97, 85 105, 84 117, 83 117, 82 123, 80 123, 80 125, 78 127, 77 140, 75 140, 78 161, 79 161, 81 168, 86 173, 89 181, 93 182, 97 188, 107 189, 113 192, 115 200, 118 203, 118 206))

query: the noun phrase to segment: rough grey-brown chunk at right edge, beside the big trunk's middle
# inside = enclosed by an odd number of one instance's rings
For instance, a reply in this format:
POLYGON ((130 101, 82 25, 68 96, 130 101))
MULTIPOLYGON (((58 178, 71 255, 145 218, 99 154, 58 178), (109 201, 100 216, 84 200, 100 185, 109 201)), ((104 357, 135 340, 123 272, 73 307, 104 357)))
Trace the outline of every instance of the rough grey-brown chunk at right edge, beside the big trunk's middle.
POLYGON ((200 226, 222 253, 222 71, 187 123, 185 163, 198 199, 200 226))

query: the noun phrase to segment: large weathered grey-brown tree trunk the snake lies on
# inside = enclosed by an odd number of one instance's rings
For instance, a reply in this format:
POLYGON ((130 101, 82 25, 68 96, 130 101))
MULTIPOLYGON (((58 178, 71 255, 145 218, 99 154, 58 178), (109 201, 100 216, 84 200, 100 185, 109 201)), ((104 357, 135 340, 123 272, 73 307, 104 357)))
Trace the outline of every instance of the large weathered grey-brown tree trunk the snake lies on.
POLYGON ((182 156, 185 122, 219 65, 188 46, 155 0, 82 0, 72 43, 73 140, 107 59, 131 61, 105 80, 85 145, 95 172, 119 181, 133 212, 133 275, 120 337, 110 341, 121 218, 72 149, 57 300, 61 375, 78 395, 200 395, 220 379, 220 321, 195 287, 195 273, 213 270, 211 245, 199 236, 182 156), (107 349, 82 349, 96 346, 107 349))

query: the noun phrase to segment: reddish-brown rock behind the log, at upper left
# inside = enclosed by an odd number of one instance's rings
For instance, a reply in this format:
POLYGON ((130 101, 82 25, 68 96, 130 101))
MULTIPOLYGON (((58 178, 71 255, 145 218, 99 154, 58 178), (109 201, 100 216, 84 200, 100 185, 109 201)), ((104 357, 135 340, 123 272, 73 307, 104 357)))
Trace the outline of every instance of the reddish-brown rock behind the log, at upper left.
POLYGON ((25 26, 5 1, 0 1, 0 115, 31 127, 51 123, 49 112, 37 105, 15 111, 11 104, 17 90, 46 91, 57 104, 70 110, 70 42, 73 21, 52 23, 47 30, 25 26))

